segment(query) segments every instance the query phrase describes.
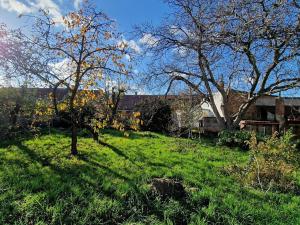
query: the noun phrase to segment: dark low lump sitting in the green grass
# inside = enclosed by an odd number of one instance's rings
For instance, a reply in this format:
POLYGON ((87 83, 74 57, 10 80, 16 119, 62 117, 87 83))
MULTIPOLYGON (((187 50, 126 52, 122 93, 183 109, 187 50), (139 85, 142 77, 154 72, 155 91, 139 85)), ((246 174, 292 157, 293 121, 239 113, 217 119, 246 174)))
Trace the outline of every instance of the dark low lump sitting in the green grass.
POLYGON ((176 200, 183 200, 186 197, 186 192, 182 183, 173 179, 152 179, 151 191, 153 194, 160 196, 162 199, 173 198, 176 200))

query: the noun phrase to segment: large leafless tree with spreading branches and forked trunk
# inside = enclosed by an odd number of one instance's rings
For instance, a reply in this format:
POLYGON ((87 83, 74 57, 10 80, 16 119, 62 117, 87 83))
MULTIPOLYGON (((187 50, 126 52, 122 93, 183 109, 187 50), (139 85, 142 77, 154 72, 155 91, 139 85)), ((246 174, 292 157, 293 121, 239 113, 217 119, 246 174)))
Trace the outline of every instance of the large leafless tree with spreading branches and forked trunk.
POLYGON ((259 97, 300 86, 299 6, 275 0, 167 0, 159 27, 137 28, 151 52, 148 78, 183 82, 207 99, 221 128, 237 127, 259 97), (247 92, 233 115, 232 89, 247 92), (223 115, 214 93, 222 96, 223 115))

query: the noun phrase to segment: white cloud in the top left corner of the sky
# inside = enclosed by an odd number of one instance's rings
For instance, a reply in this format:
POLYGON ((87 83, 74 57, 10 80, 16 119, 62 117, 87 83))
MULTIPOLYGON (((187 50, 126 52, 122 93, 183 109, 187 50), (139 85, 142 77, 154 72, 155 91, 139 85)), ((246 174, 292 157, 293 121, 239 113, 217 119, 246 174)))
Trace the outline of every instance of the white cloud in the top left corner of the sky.
POLYGON ((17 14, 36 13, 39 9, 47 10, 53 20, 57 23, 62 21, 59 6, 53 0, 0 0, 0 7, 17 14))

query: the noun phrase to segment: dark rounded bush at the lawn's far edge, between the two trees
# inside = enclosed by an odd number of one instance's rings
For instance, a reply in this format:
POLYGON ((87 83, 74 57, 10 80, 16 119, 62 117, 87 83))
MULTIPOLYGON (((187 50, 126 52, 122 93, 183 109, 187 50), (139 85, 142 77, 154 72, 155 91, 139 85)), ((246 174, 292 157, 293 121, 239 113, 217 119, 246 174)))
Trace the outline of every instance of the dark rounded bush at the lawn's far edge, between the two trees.
POLYGON ((141 113, 141 129, 155 132, 167 132, 172 110, 169 103, 162 99, 147 99, 136 106, 141 113))

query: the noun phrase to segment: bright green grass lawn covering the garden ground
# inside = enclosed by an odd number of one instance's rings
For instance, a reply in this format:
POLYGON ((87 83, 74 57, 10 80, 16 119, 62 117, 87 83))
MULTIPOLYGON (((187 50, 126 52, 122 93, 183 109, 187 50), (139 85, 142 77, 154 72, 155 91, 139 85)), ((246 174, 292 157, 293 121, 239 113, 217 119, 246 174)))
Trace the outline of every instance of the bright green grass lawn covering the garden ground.
POLYGON ((300 196, 244 188, 224 167, 248 153, 209 142, 106 131, 61 131, 0 143, 0 224, 300 224, 300 196), (153 177, 176 178, 186 201, 153 198, 153 177))

